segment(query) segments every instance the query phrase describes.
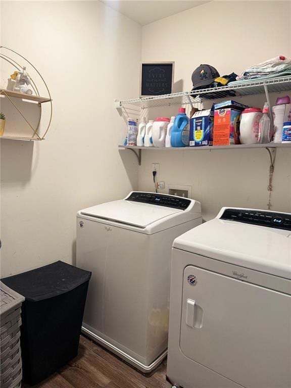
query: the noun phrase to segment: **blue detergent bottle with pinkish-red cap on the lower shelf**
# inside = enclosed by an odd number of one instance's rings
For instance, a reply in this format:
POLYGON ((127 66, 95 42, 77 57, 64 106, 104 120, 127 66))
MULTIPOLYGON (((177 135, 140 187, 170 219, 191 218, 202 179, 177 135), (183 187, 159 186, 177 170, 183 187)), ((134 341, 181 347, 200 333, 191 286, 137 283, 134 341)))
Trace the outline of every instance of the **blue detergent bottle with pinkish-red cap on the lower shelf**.
POLYGON ((185 108, 179 108, 171 130, 171 147, 189 146, 189 118, 185 108))

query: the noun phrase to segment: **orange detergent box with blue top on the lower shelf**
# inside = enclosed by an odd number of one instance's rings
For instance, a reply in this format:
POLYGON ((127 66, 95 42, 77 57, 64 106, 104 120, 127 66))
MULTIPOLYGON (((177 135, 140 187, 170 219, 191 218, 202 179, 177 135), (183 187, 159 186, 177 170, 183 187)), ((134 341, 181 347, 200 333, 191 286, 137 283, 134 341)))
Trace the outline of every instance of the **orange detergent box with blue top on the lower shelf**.
POLYGON ((239 144, 239 118, 247 105, 224 101, 214 106, 213 146, 239 144))

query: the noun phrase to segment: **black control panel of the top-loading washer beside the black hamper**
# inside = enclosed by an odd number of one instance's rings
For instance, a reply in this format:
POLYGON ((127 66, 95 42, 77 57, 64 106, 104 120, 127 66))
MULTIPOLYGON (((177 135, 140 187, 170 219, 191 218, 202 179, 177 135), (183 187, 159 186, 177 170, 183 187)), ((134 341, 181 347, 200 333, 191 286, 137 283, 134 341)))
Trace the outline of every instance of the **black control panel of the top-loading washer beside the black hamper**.
POLYGON ((190 205, 191 201, 186 198, 167 196, 153 192, 132 192, 126 198, 126 201, 142 202, 145 204, 166 206, 167 208, 175 208, 185 210, 190 205))

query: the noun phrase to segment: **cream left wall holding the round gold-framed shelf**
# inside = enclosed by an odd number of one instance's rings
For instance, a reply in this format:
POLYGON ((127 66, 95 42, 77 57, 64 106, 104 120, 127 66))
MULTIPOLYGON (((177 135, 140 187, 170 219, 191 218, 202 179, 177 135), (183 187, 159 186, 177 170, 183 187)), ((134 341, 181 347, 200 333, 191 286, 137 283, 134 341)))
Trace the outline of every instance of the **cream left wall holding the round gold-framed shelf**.
POLYGON ((77 210, 136 189, 113 101, 138 94, 141 27, 98 1, 2 2, 1 24, 1 44, 38 68, 54 109, 44 141, 1 140, 4 277, 74 262, 77 210))

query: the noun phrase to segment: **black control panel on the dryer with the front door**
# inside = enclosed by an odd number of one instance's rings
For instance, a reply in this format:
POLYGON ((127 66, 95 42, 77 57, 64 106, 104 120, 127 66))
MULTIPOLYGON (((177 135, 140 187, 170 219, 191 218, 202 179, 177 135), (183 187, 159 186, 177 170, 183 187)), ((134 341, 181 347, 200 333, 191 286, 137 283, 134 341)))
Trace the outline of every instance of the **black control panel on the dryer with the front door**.
POLYGON ((226 209, 220 218, 222 220, 291 230, 291 214, 288 213, 273 213, 252 209, 226 209))

